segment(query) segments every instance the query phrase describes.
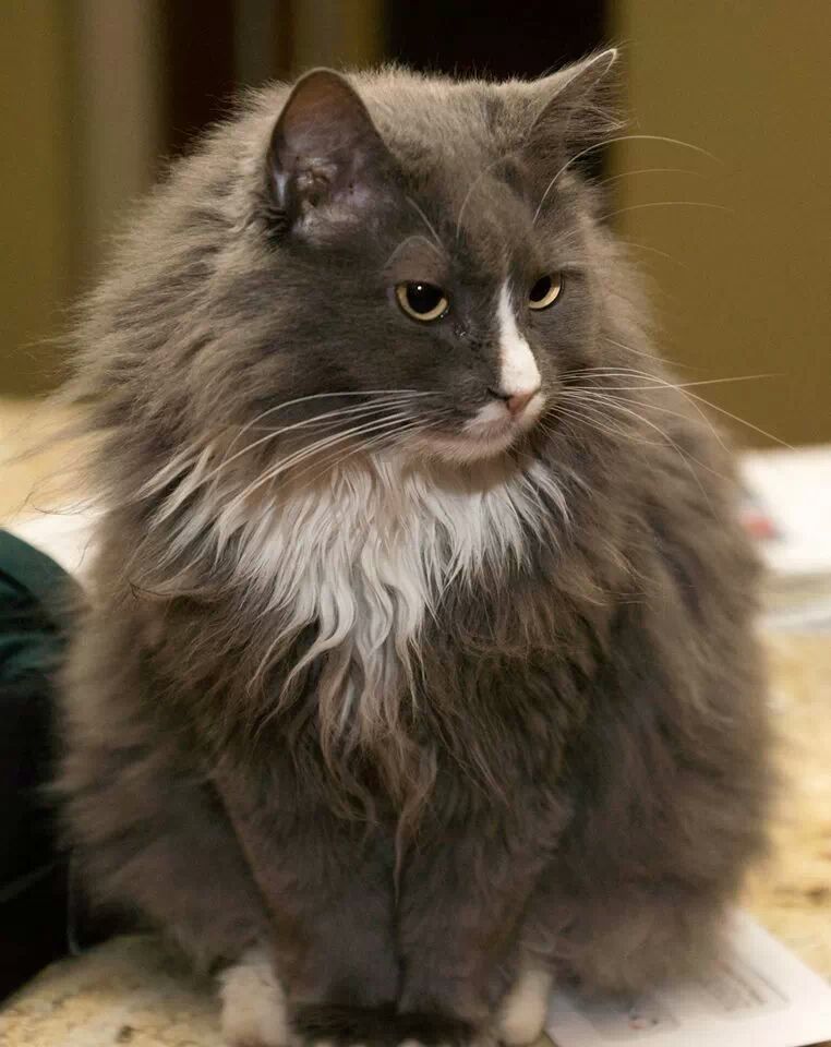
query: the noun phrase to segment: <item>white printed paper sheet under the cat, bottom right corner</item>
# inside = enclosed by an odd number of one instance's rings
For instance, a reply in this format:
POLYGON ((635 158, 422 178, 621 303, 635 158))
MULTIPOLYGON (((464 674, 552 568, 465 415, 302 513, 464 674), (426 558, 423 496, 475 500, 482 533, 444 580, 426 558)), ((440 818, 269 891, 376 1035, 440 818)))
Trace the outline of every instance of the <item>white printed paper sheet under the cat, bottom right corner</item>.
POLYGON ((831 988, 745 914, 731 950, 700 980, 655 988, 628 1007, 552 998, 556 1047, 808 1047, 831 1040, 831 988))

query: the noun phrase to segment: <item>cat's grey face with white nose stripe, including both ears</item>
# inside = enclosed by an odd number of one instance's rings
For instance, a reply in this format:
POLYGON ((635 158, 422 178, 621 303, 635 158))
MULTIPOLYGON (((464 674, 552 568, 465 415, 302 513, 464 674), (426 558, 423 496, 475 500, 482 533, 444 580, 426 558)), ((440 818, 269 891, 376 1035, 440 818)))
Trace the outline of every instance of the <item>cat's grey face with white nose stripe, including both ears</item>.
POLYGON ((591 219, 568 166, 613 58, 539 84, 410 77, 390 98, 303 77, 263 157, 274 332, 250 418, 457 461, 544 432, 564 369, 591 360, 591 219))

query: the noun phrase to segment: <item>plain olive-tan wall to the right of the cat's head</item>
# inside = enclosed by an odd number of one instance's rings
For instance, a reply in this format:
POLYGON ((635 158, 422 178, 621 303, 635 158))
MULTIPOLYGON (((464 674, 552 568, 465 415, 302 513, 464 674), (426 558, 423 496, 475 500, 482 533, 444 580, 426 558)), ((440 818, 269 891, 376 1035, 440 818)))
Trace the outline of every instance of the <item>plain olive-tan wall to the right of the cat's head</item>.
MULTIPOLYGON (((618 220, 654 278, 667 357, 689 381, 778 377, 690 389, 791 443, 831 440, 831 135, 827 0, 613 4, 633 133, 683 139, 617 149, 616 171, 697 176, 617 181, 618 220), (664 257, 665 252, 671 257, 664 257)), ((766 443, 738 429, 748 443, 766 443)))

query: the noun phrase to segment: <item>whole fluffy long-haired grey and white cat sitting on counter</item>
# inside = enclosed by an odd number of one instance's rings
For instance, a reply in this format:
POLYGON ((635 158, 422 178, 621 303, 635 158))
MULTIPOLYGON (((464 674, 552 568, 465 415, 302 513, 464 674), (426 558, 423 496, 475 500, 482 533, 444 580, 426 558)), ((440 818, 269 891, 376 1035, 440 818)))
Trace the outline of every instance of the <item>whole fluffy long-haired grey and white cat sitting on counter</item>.
POLYGON ((614 59, 258 92, 87 303, 69 831, 237 1047, 530 1043, 706 962, 761 846, 728 456, 581 173, 614 59))

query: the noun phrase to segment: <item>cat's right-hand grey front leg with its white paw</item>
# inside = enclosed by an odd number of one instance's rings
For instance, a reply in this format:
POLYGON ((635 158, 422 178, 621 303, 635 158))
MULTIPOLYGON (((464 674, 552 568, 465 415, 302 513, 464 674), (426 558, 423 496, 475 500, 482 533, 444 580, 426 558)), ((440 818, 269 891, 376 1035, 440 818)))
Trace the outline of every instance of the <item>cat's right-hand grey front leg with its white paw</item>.
POLYGON ((544 865, 531 821, 467 822, 414 854, 405 878, 399 937, 404 1014, 455 1024, 467 1042, 533 1042, 550 978, 519 956, 525 906, 544 865))

